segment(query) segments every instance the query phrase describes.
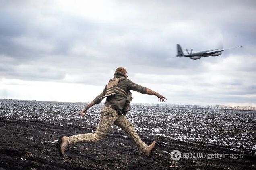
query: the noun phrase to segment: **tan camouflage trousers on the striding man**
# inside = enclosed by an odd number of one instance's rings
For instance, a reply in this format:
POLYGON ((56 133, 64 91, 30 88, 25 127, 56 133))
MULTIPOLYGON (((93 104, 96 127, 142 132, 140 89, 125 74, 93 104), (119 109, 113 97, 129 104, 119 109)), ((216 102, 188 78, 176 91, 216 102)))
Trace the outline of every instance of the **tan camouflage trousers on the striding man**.
POLYGON ((110 107, 104 107, 101 110, 101 119, 94 133, 70 136, 68 142, 69 144, 99 142, 107 135, 113 124, 121 127, 132 138, 140 151, 147 149, 147 144, 140 139, 132 123, 124 115, 118 115, 117 111, 110 107))

